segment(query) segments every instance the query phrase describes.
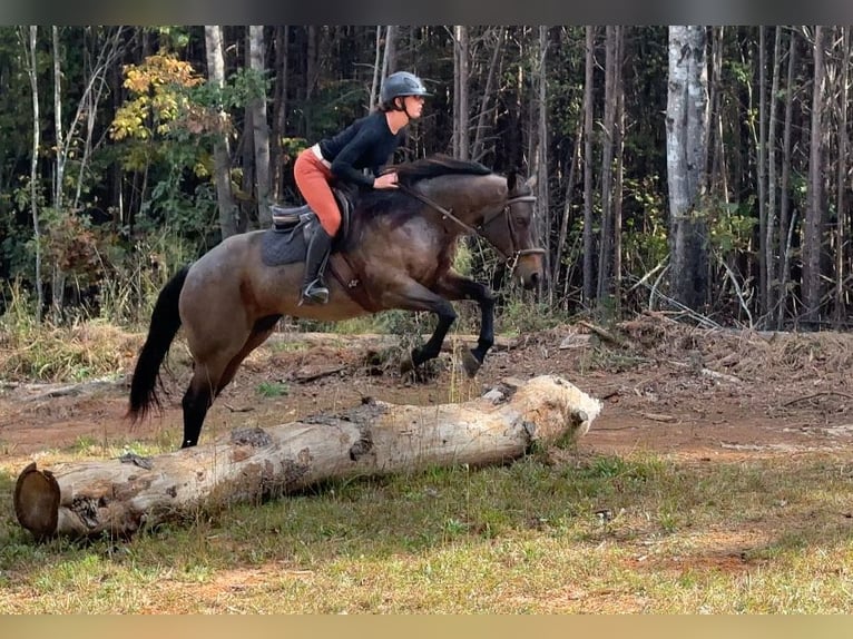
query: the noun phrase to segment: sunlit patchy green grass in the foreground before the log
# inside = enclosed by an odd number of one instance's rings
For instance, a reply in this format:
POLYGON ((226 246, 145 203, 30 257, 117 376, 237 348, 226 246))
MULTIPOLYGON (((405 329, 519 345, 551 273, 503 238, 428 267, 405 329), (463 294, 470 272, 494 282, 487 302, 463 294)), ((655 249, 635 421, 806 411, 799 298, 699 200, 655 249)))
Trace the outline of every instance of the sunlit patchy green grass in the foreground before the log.
POLYGON ((0 612, 846 612, 852 469, 533 455, 39 544, 0 465, 0 612))

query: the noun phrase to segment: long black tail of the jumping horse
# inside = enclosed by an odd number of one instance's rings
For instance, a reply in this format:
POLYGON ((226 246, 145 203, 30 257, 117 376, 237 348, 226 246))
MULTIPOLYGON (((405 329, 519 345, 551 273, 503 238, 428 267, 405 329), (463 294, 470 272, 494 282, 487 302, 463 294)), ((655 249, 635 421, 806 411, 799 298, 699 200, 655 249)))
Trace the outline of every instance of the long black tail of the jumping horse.
POLYGON ((130 405, 126 416, 134 423, 145 417, 153 405, 160 407, 156 389, 159 368, 171 341, 180 328, 178 298, 188 271, 189 266, 178 271, 163 287, 154 305, 148 337, 139 352, 134 376, 130 379, 130 405))

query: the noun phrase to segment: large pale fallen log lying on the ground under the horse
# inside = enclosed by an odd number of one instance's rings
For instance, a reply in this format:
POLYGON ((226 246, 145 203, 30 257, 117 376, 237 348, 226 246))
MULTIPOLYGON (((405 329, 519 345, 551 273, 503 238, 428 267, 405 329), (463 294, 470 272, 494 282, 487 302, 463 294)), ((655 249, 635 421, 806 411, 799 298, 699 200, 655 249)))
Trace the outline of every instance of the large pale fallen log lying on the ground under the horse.
POLYGON ((584 435, 601 403, 557 376, 504 381, 482 397, 432 406, 372 403, 335 416, 235 430, 207 445, 140 458, 28 465, 14 511, 38 539, 129 537, 198 508, 278 497, 321 480, 506 463, 532 444, 584 435))

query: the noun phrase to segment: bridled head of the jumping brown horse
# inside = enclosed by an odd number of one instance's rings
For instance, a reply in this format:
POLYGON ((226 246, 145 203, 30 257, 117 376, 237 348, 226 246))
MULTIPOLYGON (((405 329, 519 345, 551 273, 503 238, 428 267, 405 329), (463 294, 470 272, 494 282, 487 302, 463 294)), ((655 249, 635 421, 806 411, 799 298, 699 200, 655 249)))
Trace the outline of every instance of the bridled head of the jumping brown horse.
POLYGON ((524 288, 542 281, 545 249, 537 242, 533 219, 535 178, 519 183, 514 173, 507 177, 507 196, 501 208, 483 217, 479 233, 507 258, 524 288))

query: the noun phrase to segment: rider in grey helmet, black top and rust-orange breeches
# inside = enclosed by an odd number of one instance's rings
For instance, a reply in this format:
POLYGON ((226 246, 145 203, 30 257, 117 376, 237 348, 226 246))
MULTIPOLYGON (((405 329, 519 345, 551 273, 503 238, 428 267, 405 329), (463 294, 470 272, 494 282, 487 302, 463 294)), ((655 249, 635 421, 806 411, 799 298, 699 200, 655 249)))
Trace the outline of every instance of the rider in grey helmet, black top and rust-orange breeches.
POLYGON ((306 148, 296 158, 293 168, 296 186, 320 218, 305 257, 301 303, 329 301, 323 272, 332 238, 341 226, 341 213, 330 181, 336 178, 363 188, 396 188, 396 173, 380 175, 380 170, 403 142, 405 126, 421 117, 423 98, 428 95, 421 79, 413 73, 391 73, 382 83, 378 110, 306 148), (362 173, 365 168, 370 175, 362 173))

